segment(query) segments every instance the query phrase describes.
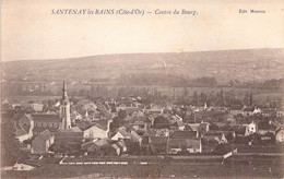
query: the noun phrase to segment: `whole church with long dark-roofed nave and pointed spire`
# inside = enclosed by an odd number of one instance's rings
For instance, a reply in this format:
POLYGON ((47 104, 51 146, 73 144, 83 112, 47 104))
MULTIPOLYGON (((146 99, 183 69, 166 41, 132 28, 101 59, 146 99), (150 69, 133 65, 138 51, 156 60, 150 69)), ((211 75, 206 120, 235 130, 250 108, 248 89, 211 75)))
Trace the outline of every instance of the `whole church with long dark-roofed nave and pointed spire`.
POLYGON ((67 95, 67 85, 63 82, 59 114, 32 114, 28 116, 28 118, 23 116, 20 118, 19 124, 29 126, 33 129, 34 135, 47 129, 55 133, 58 130, 71 128, 70 110, 71 108, 67 95))

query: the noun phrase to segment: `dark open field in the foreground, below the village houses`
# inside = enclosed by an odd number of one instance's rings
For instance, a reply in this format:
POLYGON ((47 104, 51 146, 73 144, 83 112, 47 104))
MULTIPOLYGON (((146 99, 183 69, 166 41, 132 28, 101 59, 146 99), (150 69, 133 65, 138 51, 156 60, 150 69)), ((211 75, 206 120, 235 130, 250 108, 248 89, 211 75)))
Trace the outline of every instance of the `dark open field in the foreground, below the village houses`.
MULTIPOLYGON (((181 157, 182 158, 182 157, 181 157)), ((2 178, 283 178, 283 163, 276 156, 232 157, 221 163, 156 163, 149 165, 59 165, 52 158, 40 160, 31 171, 2 171, 2 178), (275 162, 275 163, 274 163, 275 162)), ((180 158, 178 158, 179 160, 180 158)), ((58 160, 57 160, 58 162, 58 160)))

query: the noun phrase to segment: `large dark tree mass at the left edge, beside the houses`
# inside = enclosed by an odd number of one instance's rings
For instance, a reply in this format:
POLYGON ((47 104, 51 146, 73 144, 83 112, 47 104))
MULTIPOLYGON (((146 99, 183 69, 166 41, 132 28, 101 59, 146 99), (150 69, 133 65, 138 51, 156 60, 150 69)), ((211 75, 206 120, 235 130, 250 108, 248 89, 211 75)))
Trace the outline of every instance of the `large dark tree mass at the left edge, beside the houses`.
POLYGON ((20 142, 15 139, 15 124, 12 118, 2 116, 1 165, 14 165, 20 157, 20 142))

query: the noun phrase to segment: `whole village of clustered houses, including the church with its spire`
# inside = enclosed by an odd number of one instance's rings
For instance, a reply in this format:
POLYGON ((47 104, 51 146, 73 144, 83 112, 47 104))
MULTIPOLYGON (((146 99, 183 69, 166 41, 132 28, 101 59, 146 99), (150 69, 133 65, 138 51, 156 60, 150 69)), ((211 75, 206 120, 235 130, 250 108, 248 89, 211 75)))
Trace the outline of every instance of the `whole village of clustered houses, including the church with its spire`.
POLYGON ((143 104, 118 99, 61 99, 11 104, 2 100, 21 151, 35 156, 104 157, 270 153, 284 142, 283 108, 143 104))

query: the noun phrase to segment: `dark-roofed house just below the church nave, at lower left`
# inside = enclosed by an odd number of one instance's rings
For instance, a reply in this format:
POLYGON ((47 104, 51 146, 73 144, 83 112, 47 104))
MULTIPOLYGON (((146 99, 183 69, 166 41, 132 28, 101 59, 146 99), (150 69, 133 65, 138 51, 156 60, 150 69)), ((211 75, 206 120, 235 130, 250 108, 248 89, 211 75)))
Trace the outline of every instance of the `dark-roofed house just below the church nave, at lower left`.
POLYGON ((45 130, 32 141, 32 154, 45 154, 48 148, 55 143, 55 136, 50 131, 45 130))

